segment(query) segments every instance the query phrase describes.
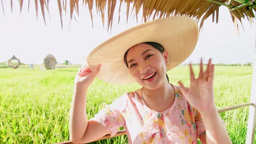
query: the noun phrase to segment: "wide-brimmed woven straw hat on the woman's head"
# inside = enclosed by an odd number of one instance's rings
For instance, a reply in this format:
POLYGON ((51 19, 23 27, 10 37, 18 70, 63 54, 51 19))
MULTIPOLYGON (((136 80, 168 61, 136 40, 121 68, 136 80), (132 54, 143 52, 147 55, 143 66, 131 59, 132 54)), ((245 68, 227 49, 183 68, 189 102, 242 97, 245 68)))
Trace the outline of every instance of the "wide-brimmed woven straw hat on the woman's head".
POLYGON ((135 26, 108 39, 90 52, 87 63, 93 71, 102 64, 98 79, 113 84, 135 83, 124 62, 125 52, 143 42, 161 44, 168 52, 167 71, 184 62, 198 39, 198 25, 185 16, 166 17, 135 26))

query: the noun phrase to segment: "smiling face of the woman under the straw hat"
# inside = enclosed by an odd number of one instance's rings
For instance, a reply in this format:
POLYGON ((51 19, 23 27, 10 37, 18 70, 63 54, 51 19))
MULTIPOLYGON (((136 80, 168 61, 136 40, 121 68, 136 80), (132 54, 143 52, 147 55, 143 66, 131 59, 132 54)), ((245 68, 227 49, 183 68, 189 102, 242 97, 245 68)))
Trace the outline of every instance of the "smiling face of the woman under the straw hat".
POLYGON ((151 45, 140 43, 129 49, 126 60, 131 76, 145 88, 154 90, 167 82, 167 51, 161 53, 151 45))

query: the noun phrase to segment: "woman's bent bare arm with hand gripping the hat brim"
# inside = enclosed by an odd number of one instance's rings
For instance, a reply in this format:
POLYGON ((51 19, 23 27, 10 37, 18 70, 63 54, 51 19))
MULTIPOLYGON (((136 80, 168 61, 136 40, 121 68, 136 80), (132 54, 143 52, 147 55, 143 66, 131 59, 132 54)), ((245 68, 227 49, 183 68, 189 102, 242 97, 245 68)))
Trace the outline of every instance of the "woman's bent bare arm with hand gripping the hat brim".
POLYGON ((72 143, 88 143, 108 134, 96 121, 88 121, 86 113, 87 89, 100 70, 91 72, 88 66, 79 69, 75 77, 74 94, 69 116, 69 135, 72 143))

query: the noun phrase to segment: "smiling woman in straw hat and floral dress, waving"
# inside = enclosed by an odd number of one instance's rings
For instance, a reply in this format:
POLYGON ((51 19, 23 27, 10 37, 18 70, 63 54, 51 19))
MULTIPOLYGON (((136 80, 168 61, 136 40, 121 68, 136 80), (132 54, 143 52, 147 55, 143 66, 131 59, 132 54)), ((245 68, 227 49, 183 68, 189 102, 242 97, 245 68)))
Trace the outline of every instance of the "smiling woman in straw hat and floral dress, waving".
POLYGON ((169 84, 166 72, 194 50, 197 23, 168 17, 129 29, 95 48, 79 70, 70 113, 70 140, 87 143, 125 127, 131 144, 231 143, 214 105, 213 67, 209 60, 197 79, 190 65, 190 88, 169 84), (126 67, 126 68, 125 68, 126 67), (92 69, 92 71, 91 71, 92 69), (95 77, 105 82, 138 82, 88 121, 87 89, 95 77))

